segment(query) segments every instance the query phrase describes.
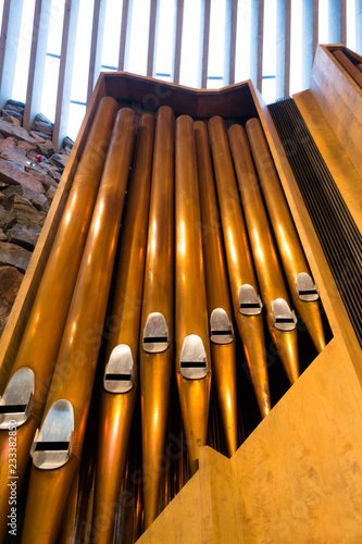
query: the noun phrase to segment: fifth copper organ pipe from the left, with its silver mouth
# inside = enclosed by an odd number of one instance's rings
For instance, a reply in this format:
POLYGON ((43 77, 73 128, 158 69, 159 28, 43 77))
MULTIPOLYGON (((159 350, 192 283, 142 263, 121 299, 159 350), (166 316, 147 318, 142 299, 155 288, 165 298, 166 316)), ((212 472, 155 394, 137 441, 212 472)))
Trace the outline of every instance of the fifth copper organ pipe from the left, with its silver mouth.
POLYGON ((211 384, 194 123, 176 122, 176 380, 190 469, 207 442, 211 384))

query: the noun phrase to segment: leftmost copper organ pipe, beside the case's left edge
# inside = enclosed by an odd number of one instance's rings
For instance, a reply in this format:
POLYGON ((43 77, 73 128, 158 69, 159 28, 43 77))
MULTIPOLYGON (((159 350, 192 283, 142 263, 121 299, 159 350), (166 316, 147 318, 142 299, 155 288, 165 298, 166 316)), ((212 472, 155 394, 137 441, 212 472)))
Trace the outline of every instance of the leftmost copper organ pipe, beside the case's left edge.
MULTIPOLYGON (((98 108, 11 373, 13 378, 24 368, 30 369, 34 373, 34 391, 25 408, 26 416, 24 413, 10 416, 10 419, 17 421, 17 492, 47 400, 53 363, 86 243, 116 109, 117 104, 112 98, 103 98, 98 108)), ((21 390, 17 387, 18 391, 21 390)), ((12 405, 21 404, 16 396, 9 401, 12 405)), ((4 420, 3 416, 0 416, 0 423, 1 420, 4 420)), ((0 511, 3 514, 0 522, 0 541, 7 530, 7 511, 10 508, 10 489, 7 486, 9 441, 5 420, 4 423, 5 430, 0 431, 0 511)))

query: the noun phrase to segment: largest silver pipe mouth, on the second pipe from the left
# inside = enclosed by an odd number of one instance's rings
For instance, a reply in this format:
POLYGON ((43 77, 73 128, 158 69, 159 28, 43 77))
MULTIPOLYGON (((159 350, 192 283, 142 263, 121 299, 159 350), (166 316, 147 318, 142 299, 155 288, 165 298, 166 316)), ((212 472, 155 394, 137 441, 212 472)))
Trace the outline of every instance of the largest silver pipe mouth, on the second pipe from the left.
POLYGON ((74 434, 74 411, 70 400, 57 400, 47 413, 41 429, 37 429, 32 445, 33 463, 38 469, 54 470, 71 457, 74 434))

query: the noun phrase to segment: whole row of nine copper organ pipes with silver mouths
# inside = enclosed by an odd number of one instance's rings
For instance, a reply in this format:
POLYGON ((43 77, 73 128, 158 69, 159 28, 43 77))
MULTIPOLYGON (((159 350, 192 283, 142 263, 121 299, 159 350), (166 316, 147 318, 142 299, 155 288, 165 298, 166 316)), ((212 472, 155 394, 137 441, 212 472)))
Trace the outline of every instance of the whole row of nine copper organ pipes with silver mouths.
POLYGON ((259 120, 250 119, 246 128, 234 124, 227 134, 220 116, 208 123, 188 115, 175 120, 165 106, 155 116, 138 119, 132 109, 117 111, 114 99, 103 98, 1 398, 1 539, 10 511, 12 421, 18 490, 32 457, 22 542, 73 542, 57 539, 70 509, 75 510, 100 359, 88 518, 92 542, 110 543, 116 515, 100 521, 117 505, 139 387, 146 530, 162 502, 173 376, 192 474, 199 446, 207 444, 211 379, 228 455, 239 445, 235 335, 240 335, 264 418, 271 396, 263 316, 292 384, 299 375, 292 308, 321 351, 325 338, 317 298, 259 120), (99 358, 102 338, 107 346, 99 358))

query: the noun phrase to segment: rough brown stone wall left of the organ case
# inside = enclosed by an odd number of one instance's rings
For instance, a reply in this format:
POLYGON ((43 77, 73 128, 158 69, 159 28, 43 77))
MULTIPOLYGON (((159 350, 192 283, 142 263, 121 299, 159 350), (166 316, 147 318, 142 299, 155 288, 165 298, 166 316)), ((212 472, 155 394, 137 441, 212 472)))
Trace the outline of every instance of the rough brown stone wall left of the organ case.
POLYGON ((9 100, 0 116, 0 336, 73 146, 55 153, 52 123, 39 114, 28 133, 23 113, 9 100))

